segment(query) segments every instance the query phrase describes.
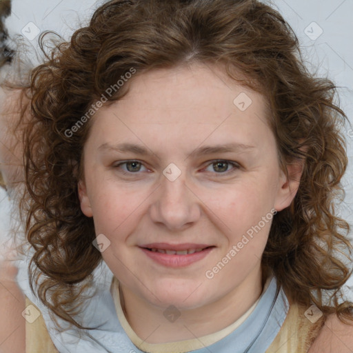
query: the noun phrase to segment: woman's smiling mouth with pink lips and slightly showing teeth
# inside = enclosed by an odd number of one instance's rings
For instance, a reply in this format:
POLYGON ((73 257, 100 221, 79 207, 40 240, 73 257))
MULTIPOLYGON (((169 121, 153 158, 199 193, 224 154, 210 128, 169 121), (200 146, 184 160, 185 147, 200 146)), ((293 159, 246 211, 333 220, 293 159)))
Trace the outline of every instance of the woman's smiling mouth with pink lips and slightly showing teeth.
POLYGON ((139 248, 154 263, 169 268, 180 268, 201 261, 216 247, 208 244, 151 243, 141 245, 139 248))

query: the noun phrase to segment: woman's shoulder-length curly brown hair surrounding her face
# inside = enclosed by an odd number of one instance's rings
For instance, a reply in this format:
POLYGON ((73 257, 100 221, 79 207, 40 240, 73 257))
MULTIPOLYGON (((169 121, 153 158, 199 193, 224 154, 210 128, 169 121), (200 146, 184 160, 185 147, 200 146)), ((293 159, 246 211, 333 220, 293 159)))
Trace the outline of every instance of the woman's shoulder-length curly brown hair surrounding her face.
MULTIPOLYGON (((350 225, 337 216, 334 204, 344 194, 340 181, 347 154, 340 128, 347 117, 334 103, 334 83, 305 68, 292 28, 256 0, 108 1, 88 26, 74 32, 69 43, 58 44, 32 71, 21 211, 37 266, 30 270, 31 283, 42 279, 39 298, 62 319, 83 327, 73 315, 102 261, 92 246, 93 220, 81 212, 77 191, 91 121, 70 137, 65 131, 130 68, 136 77, 195 61, 223 64, 234 80, 263 94, 287 175, 286 165, 305 161, 292 204, 273 219, 262 258, 264 276, 273 270, 292 301, 314 303, 325 318, 336 313, 341 321, 353 319, 353 303, 339 303, 350 270, 337 254, 343 247, 351 255, 350 225), (330 305, 325 291, 332 291, 330 305)), ((131 82, 105 104, 121 99, 131 82)))

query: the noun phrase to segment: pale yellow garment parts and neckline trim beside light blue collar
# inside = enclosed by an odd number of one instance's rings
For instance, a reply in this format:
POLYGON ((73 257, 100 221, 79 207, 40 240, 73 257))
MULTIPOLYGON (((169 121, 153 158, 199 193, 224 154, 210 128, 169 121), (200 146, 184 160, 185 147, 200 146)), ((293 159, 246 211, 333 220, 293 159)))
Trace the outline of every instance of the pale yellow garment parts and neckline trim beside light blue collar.
MULTIPOLYGON (((266 288, 266 285, 268 285, 268 281, 266 282, 264 289, 266 288)), ((132 343, 139 344, 142 340, 139 339, 136 334, 132 334, 133 331, 130 325, 127 324, 128 321, 126 321, 123 311, 121 310, 120 300, 117 301, 117 299, 119 299, 119 290, 117 290, 117 288, 118 282, 117 279, 114 278, 112 281, 112 294, 114 294, 113 298, 119 321, 121 322, 121 325, 128 334, 129 338, 132 339, 132 343), (130 329, 128 327, 130 327, 130 329)), ((256 305, 256 303, 254 305, 256 305)), ((29 299, 26 299, 26 307, 30 304, 33 305, 29 299)), ((240 325, 251 314, 252 310, 254 310, 254 305, 250 307, 248 312, 245 312, 245 314, 239 318, 239 321, 236 321, 230 326, 237 327, 237 325, 240 325)), ((319 334, 321 327, 323 327, 324 319, 323 316, 321 316, 318 321, 311 323, 311 321, 309 321, 309 319, 307 319, 304 315, 306 310, 307 308, 302 307, 301 305, 297 305, 295 303, 290 304, 290 310, 285 318, 281 330, 276 335, 274 341, 265 353, 307 353, 307 350, 309 350, 312 342, 319 334)), ((224 333, 224 330, 227 329, 228 327, 225 327, 225 329, 205 337, 208 339, 209 343, 212 340, 213 342, 218 341, 220 333, 224 333)), ((178 344, 179 343, 177 342, 175 343, 176 347, 178 344)), ((147 351, 150 353, 170 352, 170 345, 171 343, 157 344, 154 345, 155 349, 152 349, 153 345, 147 344, 147 351), (163 349, 165 350, 163 351, 163 349)), ((185 341, 183 341, 181 345, 183 345, 183 349, 185 349, 185 341)), ((191 349, 195 348, 190 345, 190 350, 191 349)), ((26 322, 26 353, 39 352, 59 353, 50 339, 43 316, 39 316, 34 323, 26 322)))

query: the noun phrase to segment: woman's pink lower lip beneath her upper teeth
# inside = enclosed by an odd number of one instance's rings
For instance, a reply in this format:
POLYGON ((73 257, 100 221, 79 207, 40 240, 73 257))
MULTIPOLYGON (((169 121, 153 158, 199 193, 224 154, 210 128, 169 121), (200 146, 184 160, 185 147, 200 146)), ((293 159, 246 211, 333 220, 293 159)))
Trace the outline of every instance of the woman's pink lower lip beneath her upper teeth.
POLYGON ((213 250, 212 248, 206 248, 200 252, 194 252, 194 254, 185 254, 185 255, 177 255, 177 254, 163 254, 161 252, 153 252, 147 250, 145 248, 141 248, 141 250, 148 256, 150 259, 156 261, 157 263, 168 266, 170 268, 182 268, 196 261, 200 261, 205 256, 210 254, 213 250))

